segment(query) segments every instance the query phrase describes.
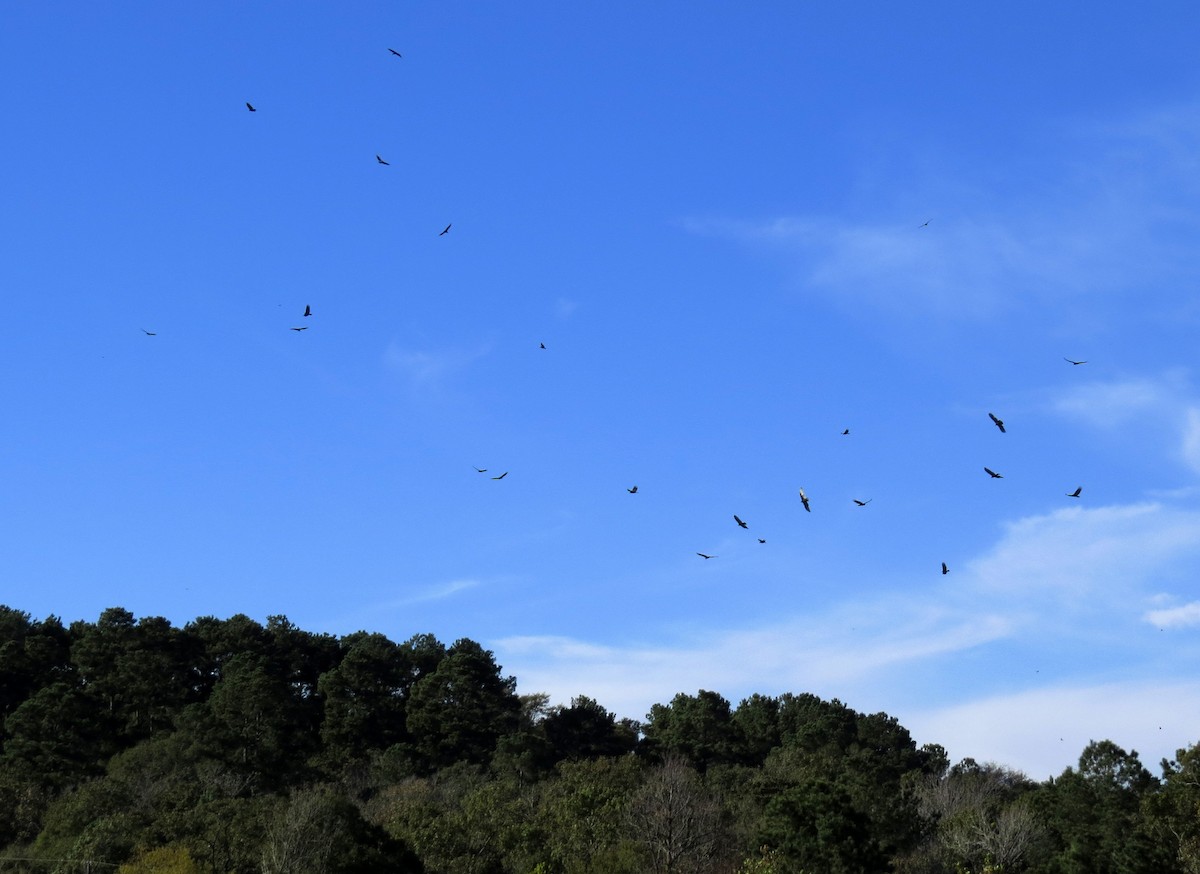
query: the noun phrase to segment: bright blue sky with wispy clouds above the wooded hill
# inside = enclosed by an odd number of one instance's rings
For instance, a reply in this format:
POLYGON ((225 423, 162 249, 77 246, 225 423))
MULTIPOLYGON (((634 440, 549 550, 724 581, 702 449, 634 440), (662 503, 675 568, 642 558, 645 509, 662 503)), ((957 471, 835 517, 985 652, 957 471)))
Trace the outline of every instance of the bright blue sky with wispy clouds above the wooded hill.
POLYGON ((1154 767, 1200 740, 1198 43, 1183 2, 11 6, 2 600, 1154 767))

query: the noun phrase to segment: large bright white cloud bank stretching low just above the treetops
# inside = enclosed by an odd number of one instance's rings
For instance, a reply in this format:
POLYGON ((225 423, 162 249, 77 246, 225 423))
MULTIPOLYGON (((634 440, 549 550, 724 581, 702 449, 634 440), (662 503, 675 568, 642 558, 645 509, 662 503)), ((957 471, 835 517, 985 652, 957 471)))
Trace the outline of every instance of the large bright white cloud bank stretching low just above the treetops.
POLYGON ((650 705, 701 688, 733 704, 754 692, 812 692, 886 710, 918 743, 942 743, 955 758, 1000 761, 1037 778, 1061 772, 1090 740, 1104 737, 1139 749, 1153 767, 1194 741, 1200 683, 1172 680, 1174 669, 1154 656, 1127 663, 1097 653, 1080 665, 1076 647, 1097 633, 1127 637, 1135 604, 1154 606, 1146 621, 1200 624, 1200 601, 1172 607, 1171 595, 1150 594, 1198 558, 1200 513, 1159 503, 1073 507, 1008 525, 983 556, 961 563, 953 586, 920 597, 847 599, 757 627, 629 646, 565 636, 492 646, 523 692, 560 702, 587 694, 620 716, 641 718, 650 705), (1018 666, 1003 687, 1042 682, 1037 665, 1060 681, 988 695, 1000 687, 970 664, 997 658, 1018 666), (1064 670, 1075 680, 1061 680, 1064 670), (968 700, 916 708, 931 699, 930 684, 942 688, 932 698, 968 700), (1181 700, 1195 705, 1180 708, 1181 700))

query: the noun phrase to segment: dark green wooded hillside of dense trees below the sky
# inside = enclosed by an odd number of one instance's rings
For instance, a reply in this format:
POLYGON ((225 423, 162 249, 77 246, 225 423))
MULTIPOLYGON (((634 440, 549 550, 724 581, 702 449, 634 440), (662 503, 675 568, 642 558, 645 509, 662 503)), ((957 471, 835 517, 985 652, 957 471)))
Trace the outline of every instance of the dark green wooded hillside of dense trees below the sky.
POLYGON ((1034 782, 810 694, 644 722, 428 634, 0 606, 0 872, 1200 874, 1200 752, 1034 782))

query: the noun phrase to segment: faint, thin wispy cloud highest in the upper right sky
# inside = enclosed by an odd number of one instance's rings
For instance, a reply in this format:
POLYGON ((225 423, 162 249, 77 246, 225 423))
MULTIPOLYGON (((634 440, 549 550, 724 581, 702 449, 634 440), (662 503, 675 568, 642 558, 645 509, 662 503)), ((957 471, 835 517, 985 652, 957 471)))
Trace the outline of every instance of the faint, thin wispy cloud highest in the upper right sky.
POLYGON ((805 287, 844 305, 978 319, 1037 304, 1044 318, 1055 301, 1129 294, 1196 265, 1194 233, 1187 233, 1198 226, 1195 185, 1186 181, 1195 158, 1180 146, 1196 139, 1198 119, 1196 108, 1186 107, 1048 133, 1049 160, 1055 149, 1062 155, 1054 186, 918 180, 923 197, 943 191, 955 204, 928 227, 918 221, 926 216, 901 218, 893 206, 865 221, 794 214, 682 225, 792 258, 805 287))

